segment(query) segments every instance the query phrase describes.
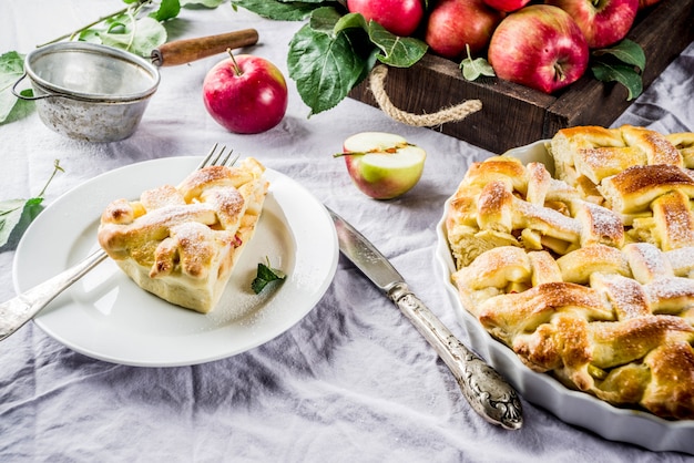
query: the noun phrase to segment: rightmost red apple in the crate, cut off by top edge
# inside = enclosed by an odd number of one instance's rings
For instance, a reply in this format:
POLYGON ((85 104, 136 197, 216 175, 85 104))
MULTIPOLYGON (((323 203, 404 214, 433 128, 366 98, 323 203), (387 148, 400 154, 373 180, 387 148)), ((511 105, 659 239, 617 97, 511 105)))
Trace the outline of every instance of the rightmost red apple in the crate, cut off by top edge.
POLYGON ((639 11, 639 0, 547 0, 545 3, 567 11, 583 31, 591 49, 602 49, 624 39, 639 11))

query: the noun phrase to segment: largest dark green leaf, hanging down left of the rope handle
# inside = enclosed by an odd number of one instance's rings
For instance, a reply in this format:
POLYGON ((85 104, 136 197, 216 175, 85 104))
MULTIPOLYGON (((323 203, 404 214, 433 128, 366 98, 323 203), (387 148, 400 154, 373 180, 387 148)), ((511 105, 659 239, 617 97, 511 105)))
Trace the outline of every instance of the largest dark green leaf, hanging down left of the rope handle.
POLYGON ((369 60, 345 32, 333 37, 305 24, 289 42, 287 66, 310 116, 343 101, 368 73, 369 60))

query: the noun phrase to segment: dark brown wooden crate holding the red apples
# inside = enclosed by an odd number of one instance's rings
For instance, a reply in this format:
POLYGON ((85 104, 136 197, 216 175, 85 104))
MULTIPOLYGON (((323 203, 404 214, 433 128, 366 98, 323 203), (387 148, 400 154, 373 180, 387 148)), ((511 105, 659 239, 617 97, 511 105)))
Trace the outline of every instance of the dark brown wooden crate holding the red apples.
MULTIPOLYGON (((627 38, 645 52, 645 90, 694 40, 694 0, 662 0, 639 16, 627 38)), ((555 95, 548 95, 496 78, 468 82, 458 63, 431 53, 412 68, 389 68, 385 90, 395 106, 414 114, 431 114, 479 99, 481 111, 432 128, 492 153, 551 137, 568 126, 609 126, 632 103, 626 101, 626 89, 599 82, 590 70, 555 95)), ((349 96, 378 107, 368 81, 349 96)))

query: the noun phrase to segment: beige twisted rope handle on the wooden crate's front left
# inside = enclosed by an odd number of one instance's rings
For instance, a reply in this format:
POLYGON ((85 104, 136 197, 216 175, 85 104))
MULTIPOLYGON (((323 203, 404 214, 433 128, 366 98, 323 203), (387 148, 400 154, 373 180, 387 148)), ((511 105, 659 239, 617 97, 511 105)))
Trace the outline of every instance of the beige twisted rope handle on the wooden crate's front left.
POLYGON ((447 122, 459 122, 482 109, 480 100, 467 100, 455 106, 440 110, 432 114, 412 114, 396 107, 386 93, 388 68, 379 64, 371 70, 369 85, 381 111, 390 119, 417 127, 432 127, 447 122))

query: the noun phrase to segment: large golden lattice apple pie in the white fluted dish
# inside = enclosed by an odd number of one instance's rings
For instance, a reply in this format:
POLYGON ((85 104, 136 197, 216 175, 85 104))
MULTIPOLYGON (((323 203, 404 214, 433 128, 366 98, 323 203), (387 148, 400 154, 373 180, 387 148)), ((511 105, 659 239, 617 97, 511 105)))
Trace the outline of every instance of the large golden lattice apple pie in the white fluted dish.
POLYGON ((694 134, 580 126, 474 163, 446 217, 462 306, 538 372, 694 419, 694 134))

